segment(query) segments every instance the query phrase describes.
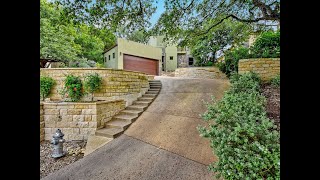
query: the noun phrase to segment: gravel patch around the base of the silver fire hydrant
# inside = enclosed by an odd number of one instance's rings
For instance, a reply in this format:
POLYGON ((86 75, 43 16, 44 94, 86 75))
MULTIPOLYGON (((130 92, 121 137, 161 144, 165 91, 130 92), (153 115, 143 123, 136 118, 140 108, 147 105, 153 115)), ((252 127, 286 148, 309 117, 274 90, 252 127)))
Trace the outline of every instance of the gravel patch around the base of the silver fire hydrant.
POLYGON ((69 165, 83 157, 86 141, 69 141, 63 143, 64 151, 67 155, 59 159, 51 157, 52 145, 50 141, 40 143, 40 178, 47 176, 50 173, 58 171, 66 165, 69 165))

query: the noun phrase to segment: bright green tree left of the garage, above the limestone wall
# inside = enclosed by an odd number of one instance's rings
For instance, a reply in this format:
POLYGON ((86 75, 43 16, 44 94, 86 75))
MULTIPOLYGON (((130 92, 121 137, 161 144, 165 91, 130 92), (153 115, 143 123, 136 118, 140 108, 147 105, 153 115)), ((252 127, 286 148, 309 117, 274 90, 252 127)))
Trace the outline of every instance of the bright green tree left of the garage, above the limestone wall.
POLYGON ((61 5, 40 1, 40 57, 69 61, 102 62, 104 49, 115 44, 115 35, 106 28, 76 23, 65 18, 61 5))

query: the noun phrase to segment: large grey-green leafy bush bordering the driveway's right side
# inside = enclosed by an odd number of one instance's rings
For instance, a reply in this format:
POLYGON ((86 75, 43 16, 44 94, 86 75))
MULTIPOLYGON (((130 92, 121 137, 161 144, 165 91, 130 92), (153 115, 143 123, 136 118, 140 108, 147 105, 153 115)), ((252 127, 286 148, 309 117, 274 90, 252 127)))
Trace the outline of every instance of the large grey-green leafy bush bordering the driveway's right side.
POLYGON ((280 179, 280 141, 266 116, 265 97, 252 73, 233 74, 231 89, 222 100, 207 104, 202 115, 209 127, 198 127, 209 138, 219 161, 209 166, 224 179, 280 179), (240 85, 241 82, 246 85, 240 85))

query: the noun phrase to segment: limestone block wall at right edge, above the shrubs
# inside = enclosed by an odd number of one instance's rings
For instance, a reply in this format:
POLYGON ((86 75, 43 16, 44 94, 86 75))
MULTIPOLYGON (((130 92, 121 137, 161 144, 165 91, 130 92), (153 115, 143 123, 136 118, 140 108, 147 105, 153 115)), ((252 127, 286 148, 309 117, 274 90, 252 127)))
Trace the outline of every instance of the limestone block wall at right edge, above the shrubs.
POLYGON ((280 58, 240 59, 238 73, 250 71, 259 74, 262 81, 268 81, 280 74, 280 58))

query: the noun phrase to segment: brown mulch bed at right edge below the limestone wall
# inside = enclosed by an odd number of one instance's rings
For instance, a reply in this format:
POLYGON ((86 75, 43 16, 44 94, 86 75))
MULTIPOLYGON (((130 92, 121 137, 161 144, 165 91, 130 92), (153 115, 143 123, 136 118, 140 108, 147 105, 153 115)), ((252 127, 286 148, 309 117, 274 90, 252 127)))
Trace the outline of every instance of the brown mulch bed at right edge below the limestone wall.
POLYGON ((277 130, 280 131, 280 87, 264 84, 261 86, 261 90, 262 94, 267 99, 267 115, 274 121, 277 130))

